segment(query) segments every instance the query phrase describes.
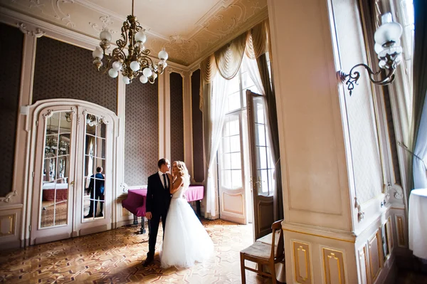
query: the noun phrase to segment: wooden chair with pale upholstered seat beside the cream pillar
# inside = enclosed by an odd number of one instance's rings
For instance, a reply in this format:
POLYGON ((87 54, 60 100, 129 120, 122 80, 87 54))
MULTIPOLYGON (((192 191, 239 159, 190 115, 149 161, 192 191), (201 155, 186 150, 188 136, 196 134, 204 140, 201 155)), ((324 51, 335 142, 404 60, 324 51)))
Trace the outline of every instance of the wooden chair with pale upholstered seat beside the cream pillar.
POLYGON ((242 273, 242 283, 246 283, 246 269, 256 272, 261 275, 268 276, 272 278, 273 284, 277 283, 276 274, 275 274, 275 263, 285 263, 285 250, 283 247, 283 230, 282 223, 283 220, 275 221, 271 228, 273 229, 272 233, 272 242, 277 243, 277 246, 261 243, 256 241, 252 246, 245 248, 241 251, 241 273, 242 273), (275 240, 276 231, 280 230, 278 242, 275 240), (245 260, 252 261, 258 264, 258 270, 249 268, 245 265, 245 260), (271 273, 266 273, 263 271, 263 265, 268 265, 271 273))

